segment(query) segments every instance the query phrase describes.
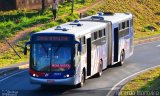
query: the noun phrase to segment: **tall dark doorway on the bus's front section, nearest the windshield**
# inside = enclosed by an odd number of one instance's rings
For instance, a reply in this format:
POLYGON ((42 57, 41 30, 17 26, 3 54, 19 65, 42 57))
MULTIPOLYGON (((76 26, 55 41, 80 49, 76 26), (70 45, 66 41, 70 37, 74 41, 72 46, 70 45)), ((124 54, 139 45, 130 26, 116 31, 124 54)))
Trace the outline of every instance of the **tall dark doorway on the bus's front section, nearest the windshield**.
POLYGON ((91 75, 91 38, 87 39, 87 76, 91 75))

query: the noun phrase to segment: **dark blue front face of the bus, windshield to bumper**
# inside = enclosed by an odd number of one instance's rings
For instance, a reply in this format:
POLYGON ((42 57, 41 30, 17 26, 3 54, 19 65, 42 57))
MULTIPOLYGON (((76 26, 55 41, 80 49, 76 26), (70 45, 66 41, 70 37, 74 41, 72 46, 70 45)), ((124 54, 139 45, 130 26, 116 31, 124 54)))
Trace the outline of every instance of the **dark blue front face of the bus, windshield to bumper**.
POLYGON ((74 36, 33 34, 30 79, 33 84, 75 85, 74 36))

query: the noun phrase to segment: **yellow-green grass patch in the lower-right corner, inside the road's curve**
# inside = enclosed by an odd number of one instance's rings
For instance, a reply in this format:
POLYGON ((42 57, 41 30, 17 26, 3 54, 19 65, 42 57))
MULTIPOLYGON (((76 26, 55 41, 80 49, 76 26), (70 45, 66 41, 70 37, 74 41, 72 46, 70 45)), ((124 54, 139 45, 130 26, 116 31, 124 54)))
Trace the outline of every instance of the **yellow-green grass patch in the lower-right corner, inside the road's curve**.
POLYGON ((137 95, 138 92, 141 93, 146 92, 143 96, 160 96, 159 85, 160 85, 160 67, 155 68, 153 70, 149 70, 132 79, 129 83, 127 83, 123 87, 122 91, 120 92, 120 96, 127 96, 129 92, 137 95), (150 94, 148 95, 147 92, 150 94), (154 95, 151 95, 151 92, 153 92, 154 95))

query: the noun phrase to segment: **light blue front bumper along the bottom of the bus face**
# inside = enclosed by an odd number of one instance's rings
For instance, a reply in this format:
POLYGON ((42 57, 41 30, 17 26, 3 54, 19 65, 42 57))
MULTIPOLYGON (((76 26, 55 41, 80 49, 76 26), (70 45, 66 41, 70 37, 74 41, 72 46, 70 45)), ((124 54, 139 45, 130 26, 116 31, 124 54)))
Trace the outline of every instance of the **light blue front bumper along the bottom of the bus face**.
POLYGON ((48 84, 48 85, 76 85, 75 77, 65 79, 41 79, 30 77, 32 84, 48 84))

